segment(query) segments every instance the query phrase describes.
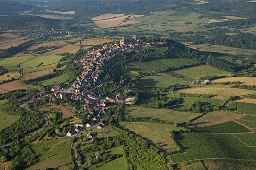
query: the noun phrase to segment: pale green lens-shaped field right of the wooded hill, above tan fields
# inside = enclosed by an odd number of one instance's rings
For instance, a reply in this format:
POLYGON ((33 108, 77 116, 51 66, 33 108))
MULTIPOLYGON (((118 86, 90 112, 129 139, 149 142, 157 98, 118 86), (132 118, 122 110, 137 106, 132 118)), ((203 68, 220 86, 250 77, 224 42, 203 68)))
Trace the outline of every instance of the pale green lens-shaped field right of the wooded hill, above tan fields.
POLYGON ((199 65, 196 67, 191 68, 184 68, 181 70, 174 71, 177 74, 181 74, 183 76, 192 78, 192 79, 199 79, 200 77, 205 76, 230 76, 230 73, 227 71, 222 71, 218 68, 212 67, 210 65, 199 65))

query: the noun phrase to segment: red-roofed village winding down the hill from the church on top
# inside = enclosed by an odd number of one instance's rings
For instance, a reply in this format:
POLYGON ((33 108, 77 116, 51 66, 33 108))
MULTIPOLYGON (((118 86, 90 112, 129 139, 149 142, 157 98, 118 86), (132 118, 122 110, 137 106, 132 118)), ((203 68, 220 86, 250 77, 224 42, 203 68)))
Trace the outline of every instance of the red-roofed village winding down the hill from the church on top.
MULTIPOLYGON (((127 99, 124 99, 123 96, 116 93, 104 96, 104 94, 96 94, 96 92, 102 86, 102 84, 99 84, 99 79, 108 71, 106 66, 115 58, 116 53, 118 51, 129 53, 134 51, 138 45, 144 45, 144 42, 135 35, 131 38, 123 37, 113 44, 106 44, 98 49, 93 48, 82 58, 74 60, 77 65, 81 65, 82 67, 82 73, 76 77, 75 82, 70 85, 64 83, 55 85, 51 88, 52 93, 50 94, 47 94, 44 89, 40 89, 40 93, 36 94, 31 102, 38 101, 38 97, 44 95, 47 96, 49 102, 65 99, 67 96, 75 101, 79 100, 83 104, 84 111, 91 109, 95 115, 93 116, 91 112, 87 116, 88 123, 86 127, 94 125, 95 121, 102 119, 104 114, 110 110, 107 107, 107 102, 132 105, 134 103, 134 96, 128 96, 127 99), (85 87, 90 90, 82 91, 81 89, 85 87)), ((76 114, 73 117, 76 117, 76 114)), ((67 136, 75 135, 79 132, 80 127, 84 126, 82 122, 78 122, 78 124, 68 131, 67 136)), ((103 128, 105 125, 107 125, 107 122, 103 119, 99 122, 97 128, 103 128)))

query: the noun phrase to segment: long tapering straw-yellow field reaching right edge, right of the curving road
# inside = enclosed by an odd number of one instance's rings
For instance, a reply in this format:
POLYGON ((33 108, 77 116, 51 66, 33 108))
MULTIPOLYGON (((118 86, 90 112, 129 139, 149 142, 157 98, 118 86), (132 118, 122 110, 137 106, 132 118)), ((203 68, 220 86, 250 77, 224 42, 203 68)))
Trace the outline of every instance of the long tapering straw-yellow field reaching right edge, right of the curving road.
POLYGON ((227 100, 230 96, 244 96, 249 94, 256 94, 256 91, 230 88, 230 85, 207 85, 200 88, 182 89, 180 90, 180 92, 189 94, 210 94, 214 95, 211 99, 220 100, 227 100))

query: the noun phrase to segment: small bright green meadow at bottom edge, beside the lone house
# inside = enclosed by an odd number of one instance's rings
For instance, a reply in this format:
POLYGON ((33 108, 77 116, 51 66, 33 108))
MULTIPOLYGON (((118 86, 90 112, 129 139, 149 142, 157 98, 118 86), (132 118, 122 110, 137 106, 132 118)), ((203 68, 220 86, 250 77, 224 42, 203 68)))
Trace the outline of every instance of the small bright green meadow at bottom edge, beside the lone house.
MULTIPOLYGON (((115 147, 109 150, 105 150, 108 154, 122 154, 120 147, 115 147)), ((88 170, 125 170, 125 158, 122 156, 121 158, 114 159, 112 161, 99 162, 97 164, 90 165, 88 170)))

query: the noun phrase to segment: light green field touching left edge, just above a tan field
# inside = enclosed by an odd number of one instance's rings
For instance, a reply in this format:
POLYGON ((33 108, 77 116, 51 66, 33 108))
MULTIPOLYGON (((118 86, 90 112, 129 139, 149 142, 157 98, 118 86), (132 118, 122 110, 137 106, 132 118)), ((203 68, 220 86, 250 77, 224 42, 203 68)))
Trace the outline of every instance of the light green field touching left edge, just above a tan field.
POLYGON ((10 71, 17 71, 19 68, 17 67, 18 64, 25 62, 29 59, 34 58, 35 56, 23 56, 23 57, 11 57, 2 59, 0 61, 0 65, 3 66, 3 68, 6 68, 10 71))

